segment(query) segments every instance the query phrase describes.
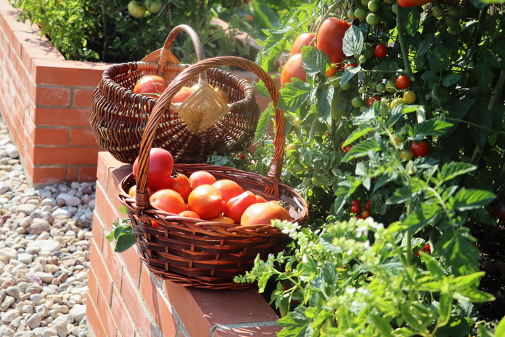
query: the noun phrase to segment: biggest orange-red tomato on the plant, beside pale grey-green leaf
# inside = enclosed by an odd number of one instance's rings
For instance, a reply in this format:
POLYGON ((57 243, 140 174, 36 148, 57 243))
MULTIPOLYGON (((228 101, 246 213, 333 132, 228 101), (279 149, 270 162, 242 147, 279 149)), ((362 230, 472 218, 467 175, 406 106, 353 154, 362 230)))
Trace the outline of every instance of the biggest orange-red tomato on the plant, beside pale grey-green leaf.
POLYGON ((342 50, 342 40, 349 27, 351 27, 349 22, 329 17, 324 20, 317 33, 317 48, 328 54, 331 63, 336 63, 337 70, 342 68, 341 63, 347 58, 342 50))

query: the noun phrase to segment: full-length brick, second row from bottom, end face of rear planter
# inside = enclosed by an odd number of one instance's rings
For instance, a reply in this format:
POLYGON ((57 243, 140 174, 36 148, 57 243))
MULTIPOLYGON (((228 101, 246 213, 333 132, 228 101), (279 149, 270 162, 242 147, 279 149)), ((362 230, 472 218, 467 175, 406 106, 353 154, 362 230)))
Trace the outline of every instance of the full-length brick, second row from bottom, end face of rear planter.
POLYGON ((94 165, 99 147, 38 147, 33 153, 35 165, 94 165))

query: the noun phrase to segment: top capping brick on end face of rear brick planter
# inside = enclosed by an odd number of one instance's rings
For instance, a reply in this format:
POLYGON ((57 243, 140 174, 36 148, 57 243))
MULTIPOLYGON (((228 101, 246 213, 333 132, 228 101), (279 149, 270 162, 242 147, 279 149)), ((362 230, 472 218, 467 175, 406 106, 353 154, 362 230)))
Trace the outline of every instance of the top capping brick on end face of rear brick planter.
POLYGON ((32 73, 37 84, 95 88, 108 63, 34 59, 32 73))

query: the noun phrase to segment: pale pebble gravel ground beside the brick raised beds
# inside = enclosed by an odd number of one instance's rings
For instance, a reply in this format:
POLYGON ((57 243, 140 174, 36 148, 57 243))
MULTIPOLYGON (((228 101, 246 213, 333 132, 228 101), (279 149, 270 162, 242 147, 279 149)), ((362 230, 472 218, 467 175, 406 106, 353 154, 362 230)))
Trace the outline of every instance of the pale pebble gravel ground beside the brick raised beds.
POLYGON ((95 184, 27 184, 0 119, 0 336, 86 336, 95 184))

